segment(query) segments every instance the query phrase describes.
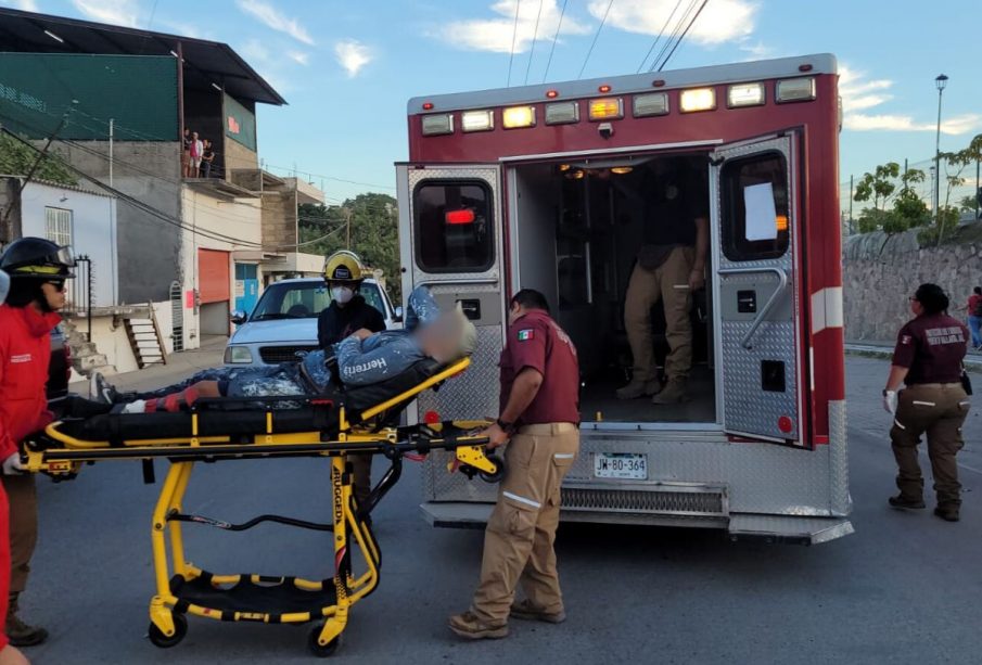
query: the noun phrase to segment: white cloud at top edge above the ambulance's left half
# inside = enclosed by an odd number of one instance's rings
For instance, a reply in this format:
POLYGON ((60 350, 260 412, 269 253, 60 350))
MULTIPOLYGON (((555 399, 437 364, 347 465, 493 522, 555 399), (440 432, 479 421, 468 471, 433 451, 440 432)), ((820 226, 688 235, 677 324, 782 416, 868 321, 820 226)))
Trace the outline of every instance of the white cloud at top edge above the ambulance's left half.
MULTIPOLYGON (((558 0, 541 0, 541 15, 539 3, 522 3, 520 0, 498 0, 490 5, 490 10, 499 17, 452 21, 439 30, 439 37, 454 47, 495 53, 511 53, 513 40, 515 53, 522 53, 531 48, 534 39, 551 41, 559 26, 558 0)), ((584 35, 590 30, 566 14, 562 18, 561 31, 563 35, 584 35)))

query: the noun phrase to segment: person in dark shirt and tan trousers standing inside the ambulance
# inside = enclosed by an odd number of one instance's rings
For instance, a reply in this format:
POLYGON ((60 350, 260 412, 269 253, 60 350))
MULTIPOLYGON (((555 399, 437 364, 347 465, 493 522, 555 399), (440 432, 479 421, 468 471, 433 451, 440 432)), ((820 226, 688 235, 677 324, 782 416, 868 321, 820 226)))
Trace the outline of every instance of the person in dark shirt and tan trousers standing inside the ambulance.
POLYGON ((645 183, 645 244, 630 274, 624 308, 624 328, 634 358, 630 383, 618 399, 653 395, 653 404, 686 401, 692 367, 692 293, 705 285, 710 245, 709 191, 705 182, 678 158, 645 183), (662 387, 654 363, 651 308, 665 308, 667 384, 662 387))

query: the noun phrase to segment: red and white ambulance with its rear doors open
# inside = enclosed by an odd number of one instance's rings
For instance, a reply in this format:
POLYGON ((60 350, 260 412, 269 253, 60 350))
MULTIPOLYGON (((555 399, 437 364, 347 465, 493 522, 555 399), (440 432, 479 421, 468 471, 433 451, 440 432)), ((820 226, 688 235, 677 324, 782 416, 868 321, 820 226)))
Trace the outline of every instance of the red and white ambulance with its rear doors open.
MULTIPOLYGON (((498 413, 507 303, 537 289, 583 370, 564 520, 808 543, 852 533, 837 88, 836 59, 818 54, 411 100, 396 167, 404 293, 462 303, 480 333, 466 376, 413 417, 498 413), (710 217, 691 399, 618 401, 627 281, 658 222, 637 183, 679 164, 703 179, 710 217)), ((663 319, 655 308, 655 331, 663 319)), ((424 471, 425 515, 482 524, 495 488, 444 462, 424 471)))

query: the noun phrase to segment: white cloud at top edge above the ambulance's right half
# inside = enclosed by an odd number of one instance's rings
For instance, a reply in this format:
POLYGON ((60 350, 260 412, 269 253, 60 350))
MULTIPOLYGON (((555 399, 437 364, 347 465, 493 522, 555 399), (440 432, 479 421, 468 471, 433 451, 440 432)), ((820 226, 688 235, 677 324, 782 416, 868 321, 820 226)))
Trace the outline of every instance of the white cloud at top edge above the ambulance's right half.
MULTIPOLYGON (((652 37, 663 30, 667 36, 680 20, 686 18, 686 22, 691 20, 698 9, 691 4, 683 8, 677 0, 617 0, 613 4, 610 0, 590 0, 587 5, 590 14, 597 20, 603 18, 608 8, 610 13, 605 26, 652 37), (680 11, 676 11, 673 16, 672 12, 676 7, 679 7, 680 11), (693 8, 692 13, 687 14, 689 7, 693 8)), ((712 46, 749 37, 753 33, 756 12, 757 4, 749 0, 713 0, 705 11, 699 14, 699 18, 686 34, 686 39, 712 46)))

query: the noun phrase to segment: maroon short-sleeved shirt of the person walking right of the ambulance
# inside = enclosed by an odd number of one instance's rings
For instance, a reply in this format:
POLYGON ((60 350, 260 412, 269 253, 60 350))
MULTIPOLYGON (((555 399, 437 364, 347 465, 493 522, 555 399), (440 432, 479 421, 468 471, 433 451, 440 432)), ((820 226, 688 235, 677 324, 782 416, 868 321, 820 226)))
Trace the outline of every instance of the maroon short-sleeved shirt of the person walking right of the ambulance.
POLYGON ((901 329, 893 365, 909 369, 905 383, 957 383, 968 350, 968 329, 945 314, 923 315, 901 329))

